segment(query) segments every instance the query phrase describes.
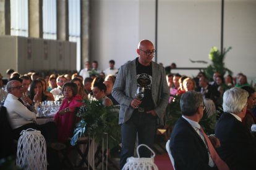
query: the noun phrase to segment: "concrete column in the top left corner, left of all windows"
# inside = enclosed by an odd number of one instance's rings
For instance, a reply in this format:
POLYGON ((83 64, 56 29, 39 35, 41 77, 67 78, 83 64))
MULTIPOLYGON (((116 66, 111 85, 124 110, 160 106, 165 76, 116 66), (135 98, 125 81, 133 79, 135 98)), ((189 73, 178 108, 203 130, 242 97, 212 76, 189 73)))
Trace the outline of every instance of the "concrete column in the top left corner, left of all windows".
POLYGON ((0 35, 11 34, 10 0, 0 0, 0 35))

